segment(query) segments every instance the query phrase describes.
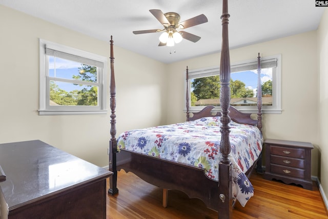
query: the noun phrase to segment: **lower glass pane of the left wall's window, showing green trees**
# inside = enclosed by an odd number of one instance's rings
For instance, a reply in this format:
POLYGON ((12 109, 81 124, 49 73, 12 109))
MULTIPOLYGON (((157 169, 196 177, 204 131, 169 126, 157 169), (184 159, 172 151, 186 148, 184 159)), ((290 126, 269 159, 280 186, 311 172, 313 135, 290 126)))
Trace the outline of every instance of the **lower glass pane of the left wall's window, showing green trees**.
POLYGON ((50 81, 50 106, 98 106, 98 87, 50 81))

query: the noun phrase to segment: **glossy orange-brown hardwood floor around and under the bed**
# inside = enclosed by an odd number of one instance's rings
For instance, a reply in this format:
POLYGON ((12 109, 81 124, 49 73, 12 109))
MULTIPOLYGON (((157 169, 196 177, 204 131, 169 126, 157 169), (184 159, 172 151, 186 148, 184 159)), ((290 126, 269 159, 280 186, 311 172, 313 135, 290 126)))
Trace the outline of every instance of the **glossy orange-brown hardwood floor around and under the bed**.
MULTIPOLYGON (((233 218, 328 218, 318 186, 313 191, 295 185, 267 181, 253 173, 255 195, 245 207, 237 202, 233 218)), ((169 190, 168 207, 162 207, 162 189, 142 181, 133 173, 118 172, 119 193, 107 195, 107 218, 217 218, 197 198, 169 190)))

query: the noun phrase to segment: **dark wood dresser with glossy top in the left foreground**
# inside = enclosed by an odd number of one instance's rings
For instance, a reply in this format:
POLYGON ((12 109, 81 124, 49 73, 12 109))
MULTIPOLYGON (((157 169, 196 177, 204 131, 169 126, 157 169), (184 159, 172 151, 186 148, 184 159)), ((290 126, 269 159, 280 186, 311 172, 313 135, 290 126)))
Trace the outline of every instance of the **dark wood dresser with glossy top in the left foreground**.
POLYGON ((112 172, 42 141, 0 144, 0 218, 106 218, 112 172))

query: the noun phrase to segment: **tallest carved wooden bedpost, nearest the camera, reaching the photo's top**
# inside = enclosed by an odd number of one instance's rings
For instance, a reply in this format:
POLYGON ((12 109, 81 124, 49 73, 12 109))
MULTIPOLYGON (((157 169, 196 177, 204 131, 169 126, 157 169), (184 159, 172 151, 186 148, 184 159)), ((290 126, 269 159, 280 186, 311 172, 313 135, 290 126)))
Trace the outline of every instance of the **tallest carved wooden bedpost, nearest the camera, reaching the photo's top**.
POLYGON ((219 206, 218 218, 232 218, 232 177, 229 154, 231 151, 230 133, 230 52, 229 52, 229 24, 228 0, 222 2, 222 48, 220 61, 220 104, 221 104, 221 142, 222 158, 219 163, 219 206))

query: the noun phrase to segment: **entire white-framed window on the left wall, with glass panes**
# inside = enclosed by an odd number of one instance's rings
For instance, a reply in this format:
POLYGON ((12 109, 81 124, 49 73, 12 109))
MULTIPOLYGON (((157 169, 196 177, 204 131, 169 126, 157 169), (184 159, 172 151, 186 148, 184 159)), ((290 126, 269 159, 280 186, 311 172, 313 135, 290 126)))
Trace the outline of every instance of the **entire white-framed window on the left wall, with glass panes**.
POLYGON ((40 39, 39 115, 106 110, 107 58, 40 39))

